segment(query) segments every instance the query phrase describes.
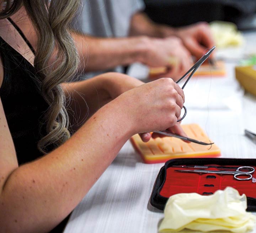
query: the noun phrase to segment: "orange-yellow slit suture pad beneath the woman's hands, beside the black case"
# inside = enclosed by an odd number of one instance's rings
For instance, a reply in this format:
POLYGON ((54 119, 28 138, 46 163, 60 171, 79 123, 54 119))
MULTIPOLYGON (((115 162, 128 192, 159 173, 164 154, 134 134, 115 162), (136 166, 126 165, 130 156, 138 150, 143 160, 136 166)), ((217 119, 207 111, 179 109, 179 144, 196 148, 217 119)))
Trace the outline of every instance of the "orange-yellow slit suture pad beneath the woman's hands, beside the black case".
MULTIPOLYGON (((210 142, 199 125, 182 125, 182 128, 188 137, 202 142, 210 142)), ((174 158, 220 156, 220 149, 215 144, 203 146, 193 142, 186 143, 175 137, 151 138, 149 142, 143 142, 138 134, 130 140, 145 163, 164 163, 174 158)))

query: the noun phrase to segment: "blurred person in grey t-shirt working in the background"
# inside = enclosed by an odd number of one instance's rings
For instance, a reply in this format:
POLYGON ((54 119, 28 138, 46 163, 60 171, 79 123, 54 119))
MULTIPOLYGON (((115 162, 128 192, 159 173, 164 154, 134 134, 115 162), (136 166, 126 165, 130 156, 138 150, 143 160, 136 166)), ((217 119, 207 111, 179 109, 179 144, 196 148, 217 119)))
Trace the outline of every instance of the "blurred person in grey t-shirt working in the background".
POLYGON ((191 56, 199 59, 214 46, 207 23, 171 28, 154 23, 143 10, 143 0, 84 0, 79 24, 86 41, 80 49, 89 58, 86 72, 114 67, 123 72, 122 66, 140 62, 166 67, 165 77, 177 79, 192 66, 191 56))

